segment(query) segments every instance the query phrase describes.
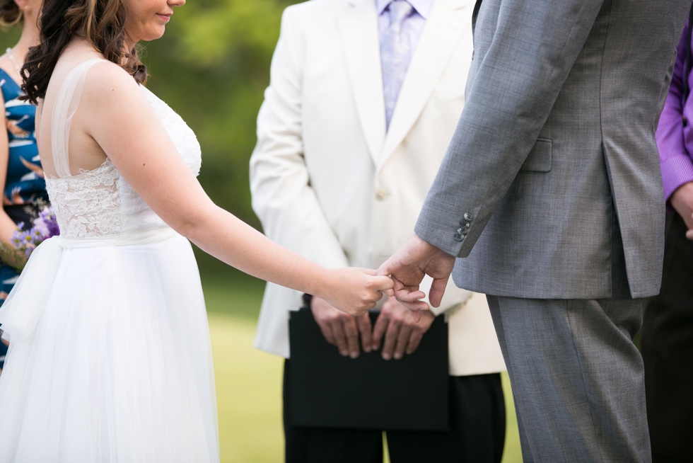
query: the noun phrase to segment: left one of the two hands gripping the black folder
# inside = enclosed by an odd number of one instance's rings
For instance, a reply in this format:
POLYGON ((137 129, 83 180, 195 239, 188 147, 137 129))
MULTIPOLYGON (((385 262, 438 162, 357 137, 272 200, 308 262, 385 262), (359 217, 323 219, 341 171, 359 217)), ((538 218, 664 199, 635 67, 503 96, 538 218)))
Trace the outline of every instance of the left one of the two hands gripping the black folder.
POLYGON ((310 310, 313 311, 315 321, 320 326, 322 336, 325 336, 328 343, 336 345, 339 353, 344 357, 359 357, 359 334, 361 334, 363 352, 371 352, 372 327, 371 318, 367 313, 359 316, 345 314, 320 297, 313 297, 310 310))

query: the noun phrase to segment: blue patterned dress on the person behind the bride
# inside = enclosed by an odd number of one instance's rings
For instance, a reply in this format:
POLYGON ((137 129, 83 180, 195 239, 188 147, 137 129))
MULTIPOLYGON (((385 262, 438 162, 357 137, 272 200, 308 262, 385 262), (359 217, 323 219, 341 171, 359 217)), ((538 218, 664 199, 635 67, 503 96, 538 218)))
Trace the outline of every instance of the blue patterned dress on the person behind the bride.
MULTIPOLYGON (((2 204, 5 212, 15 222, 31 219, 27 207, 35 207, 36 200, 48 200, 46 182, 38 156, 34 134, 36 107, 17 98, 23 95, 20 86, 0 69, 0 88, 5 101, 9 160, 2 204)), ((9 265, 0 265, 0 305, 14 286, 18 274, 9 265)), ((0 343, 0 368, 4 363, 5 345, 0 343)))

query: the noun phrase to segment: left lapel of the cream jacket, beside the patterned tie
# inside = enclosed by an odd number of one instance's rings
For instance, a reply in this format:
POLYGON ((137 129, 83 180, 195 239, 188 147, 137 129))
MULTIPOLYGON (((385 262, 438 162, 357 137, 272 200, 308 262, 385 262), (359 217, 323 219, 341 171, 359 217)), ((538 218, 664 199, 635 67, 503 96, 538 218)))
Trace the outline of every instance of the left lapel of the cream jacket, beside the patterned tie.
POLYGON ((337 23, 356 111, 373 163, 377 164, 385 139, 385 103, 375 1, 349 0, 337 23))

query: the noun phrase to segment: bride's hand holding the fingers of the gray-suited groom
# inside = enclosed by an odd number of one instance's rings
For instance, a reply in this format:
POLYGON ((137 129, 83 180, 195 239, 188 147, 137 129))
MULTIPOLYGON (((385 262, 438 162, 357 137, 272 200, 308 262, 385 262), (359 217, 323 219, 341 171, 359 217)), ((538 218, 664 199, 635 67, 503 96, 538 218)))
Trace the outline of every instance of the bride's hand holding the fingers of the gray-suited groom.
POLYGON ((375 276, 375 270, 368 268, 334 268, 326 276, 327 285, 315 296, 347 314, 365 314, 383 294, 395 294, 392 278, 375 276))

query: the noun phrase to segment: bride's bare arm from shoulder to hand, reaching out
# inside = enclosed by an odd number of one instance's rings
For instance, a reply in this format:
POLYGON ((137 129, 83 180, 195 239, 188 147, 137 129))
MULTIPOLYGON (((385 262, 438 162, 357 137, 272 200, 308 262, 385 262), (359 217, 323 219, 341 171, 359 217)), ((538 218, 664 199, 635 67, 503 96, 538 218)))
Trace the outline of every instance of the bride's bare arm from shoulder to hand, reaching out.
POLYGON ((381 297, 379 291, 391 295, 390 278, 354 268, 322 268, 214 205, 141 88, 119 67, 98 64, 91 69, 71 133, 93 137, 159 217, 228 265, 316 295, 351 314, 371 309, 381 297))

